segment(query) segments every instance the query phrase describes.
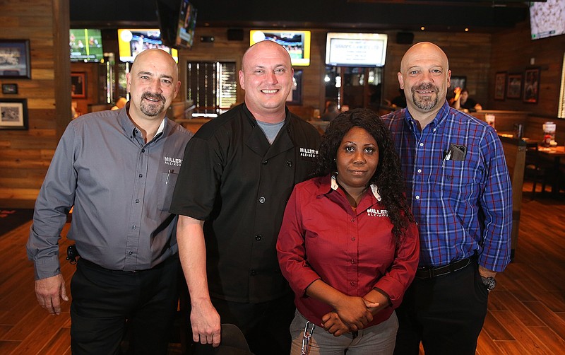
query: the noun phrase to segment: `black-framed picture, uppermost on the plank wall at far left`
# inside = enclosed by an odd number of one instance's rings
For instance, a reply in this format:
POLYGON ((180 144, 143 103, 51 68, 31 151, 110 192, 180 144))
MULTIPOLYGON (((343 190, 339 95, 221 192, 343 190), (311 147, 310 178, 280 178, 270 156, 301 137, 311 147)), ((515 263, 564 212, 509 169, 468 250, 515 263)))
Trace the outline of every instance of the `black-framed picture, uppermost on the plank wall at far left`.
POLYGON ((31 78, 30 40, 0 40, 0 78, 31 78))

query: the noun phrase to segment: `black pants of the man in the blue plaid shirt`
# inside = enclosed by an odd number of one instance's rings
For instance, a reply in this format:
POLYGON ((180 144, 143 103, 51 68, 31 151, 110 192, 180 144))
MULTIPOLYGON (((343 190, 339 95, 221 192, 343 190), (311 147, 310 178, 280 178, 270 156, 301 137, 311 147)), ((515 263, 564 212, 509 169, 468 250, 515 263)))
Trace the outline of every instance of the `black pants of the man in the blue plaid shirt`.
POLYGON ((473 355, 487 315, 488 291, 478 266, 430 279, 414 279, 396 310, 396 355, 473 355))

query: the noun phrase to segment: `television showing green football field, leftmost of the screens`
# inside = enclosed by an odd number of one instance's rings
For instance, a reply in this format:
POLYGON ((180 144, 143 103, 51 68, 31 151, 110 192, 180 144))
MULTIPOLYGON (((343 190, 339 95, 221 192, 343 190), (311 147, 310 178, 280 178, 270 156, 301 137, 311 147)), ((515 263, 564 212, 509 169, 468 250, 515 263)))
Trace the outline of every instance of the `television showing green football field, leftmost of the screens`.
POLYGON ((71 62, 102 62, 102 33, 95 28, 73 28, 69 30, 71 62))

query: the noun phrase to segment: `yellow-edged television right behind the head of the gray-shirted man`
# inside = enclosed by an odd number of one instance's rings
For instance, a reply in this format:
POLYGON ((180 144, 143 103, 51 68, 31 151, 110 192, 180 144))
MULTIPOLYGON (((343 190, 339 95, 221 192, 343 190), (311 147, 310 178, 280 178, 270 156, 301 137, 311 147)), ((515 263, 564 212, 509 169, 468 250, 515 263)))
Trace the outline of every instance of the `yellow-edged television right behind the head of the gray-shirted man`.
POLYGON ((179 62, 177 50, 163 44, 161 31, 158 28, 130 28, 118 30, 118 45, 120 62, 133 62, 137 54, 153 48, 158 48, 170 53, 174 61, 179 62))

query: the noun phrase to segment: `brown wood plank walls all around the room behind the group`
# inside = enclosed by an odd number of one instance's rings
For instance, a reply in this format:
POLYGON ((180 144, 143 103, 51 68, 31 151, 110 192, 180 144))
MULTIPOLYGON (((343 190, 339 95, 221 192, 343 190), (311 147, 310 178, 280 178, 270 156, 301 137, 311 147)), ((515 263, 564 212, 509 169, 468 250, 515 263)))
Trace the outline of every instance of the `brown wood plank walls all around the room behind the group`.
MULTIPOLYGON (((1 83, 18 83, 18 95, 0 97, 27 98, 30 116, 28 131, 0 131, 1 206, 33 206, 58 137, 70 120, 71 101, 64 94, 70 92, 69 73, 60 65, 56 65, 58 57, 55 55, 56 51, 66 52, 66 48, 64 45, 55 45, 57 36, 54 35, 68 32, 68 26, 61 27, 66 25, 64 21, 54 21, 54 13, 68 13, 68 6, 69 0, 3 0, 0 3, 0 13, 4 14, 0 15, 0 38, 15 38, 12 33, 17 33, 18 38, 30 38, 32 55, 31 80, 0 80, 1 83), (59 78, 62 80, 57 80, 59 78), (55 103, 59 107, 56 107, 55 103), (57 110, 69 110, 69 118, 66 114, 57 113, 57 110)), ((180 78, 184 78, 186 74, 186 62, 193 60, 232 60, 237 63, 238 68, 241 66, 242 55, 249 47, 249 28, 242 28, 244 39, 241 41, 227 40, 227 29, 205 26, 196 28, 194 47, 191 50, 179 51, 180 78), (200 42, 201 36, 213 36, 215 40, 200 42)), ((328 31, 329 29, 311 30, 311 64, 297 67, 304 70, 302 107, 294 107, 294 110, 307 112, 323 107, 324 58, 328 31), (307 110, 303 110, 304 108, 307 110)), ((389 35, 389 42, 382 96, 388 99, 398 93, 397 72, 400 60, 410 47, 396 43, 397 32, 384 31, 389 35)), ((514 29, 493 34, 473 33, 471 29, 468 33, 418 31, 414 35, 414 42, 434 42, 446 52, 453 75, 467 76, 470 95, 482 103, 485 109, 533 112, 538 117, 535 119, 536 125, 547 117, 557 115, 565 36, 531 41, 528 22, 521 23, 514 29), (497 71, 523 72, 529 67, 530 57, 535 57, 536 64, 542 69, 540 103, 492 100, 494 74, 497 71)), ((111 46, 109 49, 112 51, 111 46)), ((98 87, 96 71, 93 69, 97 64, 77 65, 73 64, 73 70, 78 68, 78 71, 87 71, 88 75, 89 98, 81 101, 81 110, 84 110, 83 104, 95 103, 96 100, 90 93, 98 87)), ((183 101, 184 98, 186 87, 183 85, 177 102, 183 101)), ((242 102, 244 98, 244 92, 239 86, 237 98, 238 102, 242 102)), ((565 123, 558 122, 557 126, 559 132, 559 127, 565 126, 565 123)), ((528 131, 529 127, 526 129, 528 131)))

